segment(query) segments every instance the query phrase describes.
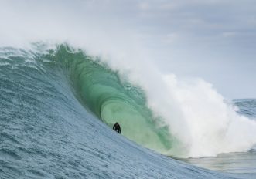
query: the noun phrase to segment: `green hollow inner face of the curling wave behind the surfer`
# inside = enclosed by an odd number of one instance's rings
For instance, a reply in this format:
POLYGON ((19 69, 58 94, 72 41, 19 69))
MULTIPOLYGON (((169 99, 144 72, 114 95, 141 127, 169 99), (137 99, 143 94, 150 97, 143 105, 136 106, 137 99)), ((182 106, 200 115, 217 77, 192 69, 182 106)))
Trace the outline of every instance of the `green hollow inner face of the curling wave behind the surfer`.
POLYGON ((118 122, 122 135, 144 147, 162 154, 172 150, 175 139, 167 127, 159 127, 161 119, 146 107, 143 90, 121 79, 118 71, 67 45, 49 52, 47 59, 65 69, 77 99, 98 119, 109 127, 118 122))

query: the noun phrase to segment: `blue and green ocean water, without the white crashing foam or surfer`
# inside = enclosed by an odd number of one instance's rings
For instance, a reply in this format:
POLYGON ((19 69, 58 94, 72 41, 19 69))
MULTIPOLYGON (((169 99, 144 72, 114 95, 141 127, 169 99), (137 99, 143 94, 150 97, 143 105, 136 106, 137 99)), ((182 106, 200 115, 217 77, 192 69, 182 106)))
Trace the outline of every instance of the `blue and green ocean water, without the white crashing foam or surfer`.
MULTIPOLYGON (((234 106, 254 121, 255 100, 234 106)), ((146 90, 83 50, 0 49, 0 178, 256 177, 253 147, 195 158, 163 119, 146 90)))

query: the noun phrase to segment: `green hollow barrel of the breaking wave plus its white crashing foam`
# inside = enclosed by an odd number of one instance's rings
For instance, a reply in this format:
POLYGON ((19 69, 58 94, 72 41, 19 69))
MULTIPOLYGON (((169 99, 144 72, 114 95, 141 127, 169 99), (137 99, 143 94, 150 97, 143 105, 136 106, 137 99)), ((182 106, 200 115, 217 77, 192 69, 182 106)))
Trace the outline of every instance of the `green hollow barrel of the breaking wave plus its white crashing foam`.
POLYGON ((124 73, 65 44, 44 56, 60 66, 95 116, 110 127, 118 121, 125 137, 161 154, 215 156, 250 150, 256 142, 255 121, 238 115, 202 79, 183 81, 149 69, 124 73))

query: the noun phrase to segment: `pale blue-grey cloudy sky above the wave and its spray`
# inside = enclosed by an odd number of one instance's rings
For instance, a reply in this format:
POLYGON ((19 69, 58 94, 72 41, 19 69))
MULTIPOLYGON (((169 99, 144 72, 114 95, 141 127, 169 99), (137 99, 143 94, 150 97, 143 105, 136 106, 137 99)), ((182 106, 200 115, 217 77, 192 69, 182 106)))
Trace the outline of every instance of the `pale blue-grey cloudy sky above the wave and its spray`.
POLYGON ((254 0, 0 0, 0 25, 1 46, 71 37, 146 49, 162 73, 200 77, 227 99, 256 98, 254 0))

